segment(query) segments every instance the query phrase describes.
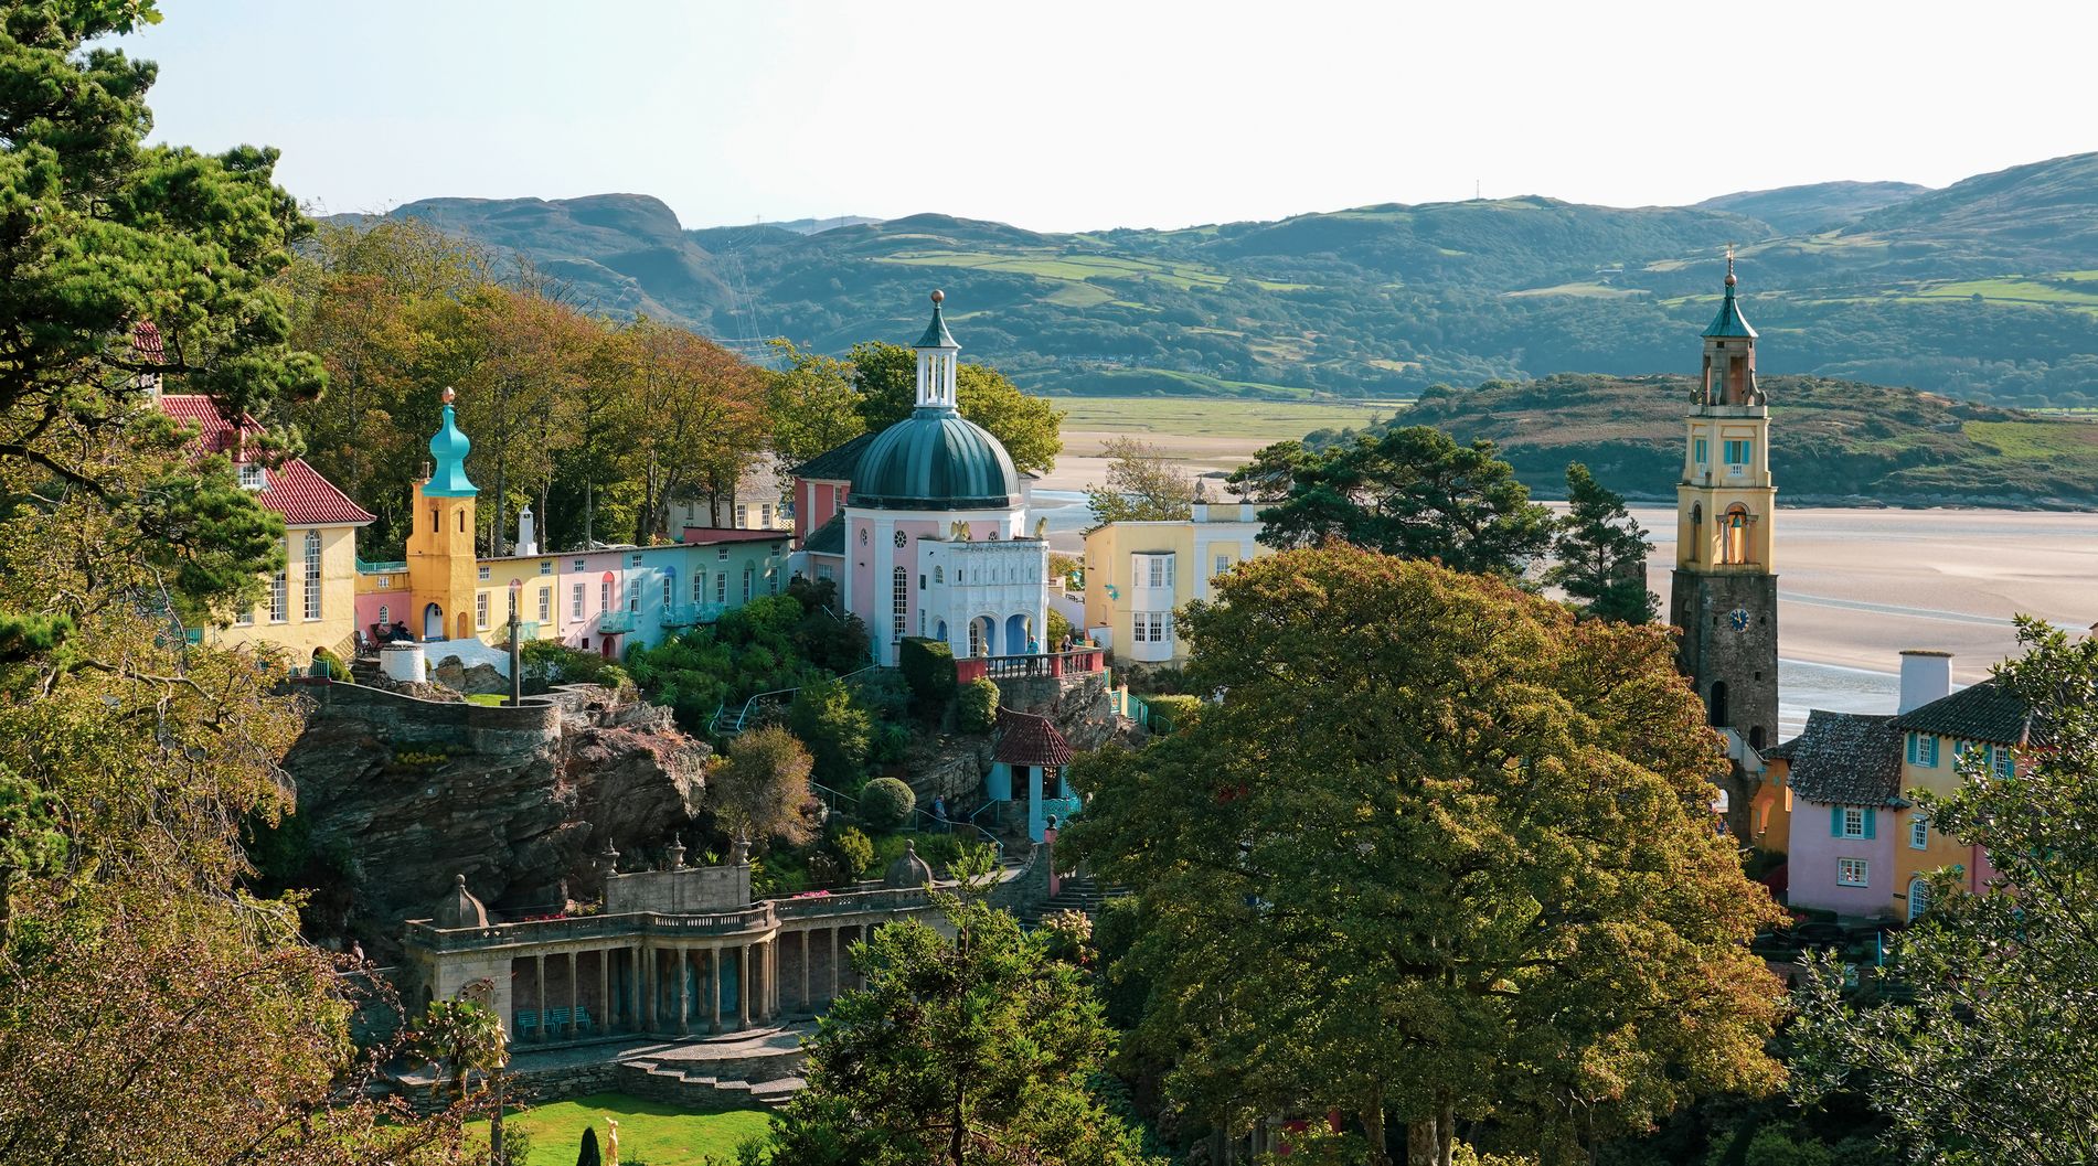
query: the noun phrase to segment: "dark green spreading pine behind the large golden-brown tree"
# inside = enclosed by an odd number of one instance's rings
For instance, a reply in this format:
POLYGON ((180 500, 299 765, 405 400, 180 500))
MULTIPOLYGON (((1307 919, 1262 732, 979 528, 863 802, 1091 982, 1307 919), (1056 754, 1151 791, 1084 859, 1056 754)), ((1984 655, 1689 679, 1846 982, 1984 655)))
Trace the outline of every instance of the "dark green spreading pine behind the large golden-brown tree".
POLYGON ((1473 575, 1519 577, 1550 549, 1553 516, 1494 453, 1490 440, 1458 445, 1427 426, 1307 453, 1288 495, 1261 512, 1261 541, 1286 549, 1345 539, 1473 575))

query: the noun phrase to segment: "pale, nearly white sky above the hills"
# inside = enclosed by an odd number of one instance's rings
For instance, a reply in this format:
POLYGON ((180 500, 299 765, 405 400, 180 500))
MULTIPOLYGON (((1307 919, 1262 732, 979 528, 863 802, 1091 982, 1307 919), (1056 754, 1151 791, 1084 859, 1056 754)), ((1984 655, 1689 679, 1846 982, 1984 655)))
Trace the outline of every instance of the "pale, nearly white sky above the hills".
POLYGON ((325 212, 657 195, 686 226, 1039 231, 1689 203, 2098 149, 2098 4, 162 0, 162 141, 325 212))

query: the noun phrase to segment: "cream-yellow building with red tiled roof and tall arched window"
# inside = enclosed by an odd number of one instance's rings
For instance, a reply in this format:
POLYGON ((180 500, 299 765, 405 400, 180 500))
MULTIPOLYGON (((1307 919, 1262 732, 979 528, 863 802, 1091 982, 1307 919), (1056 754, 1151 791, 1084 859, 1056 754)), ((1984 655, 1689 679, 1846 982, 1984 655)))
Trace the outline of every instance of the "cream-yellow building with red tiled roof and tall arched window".
POLYGON ((283 570, 269 579, 260 604, 227 627, 208 631, 214 644, 275 644, 294 663, 327 648, 348 658, 357 631, 357 528, 373 516, 327 478, 294 457, 264 466, 250 457, 262 428, 252 417, 235 426, 210 396, 166 394, 159 409, 197 430, 204 453, 222 453, 239 470, 256 501, 283 518, 283 570))

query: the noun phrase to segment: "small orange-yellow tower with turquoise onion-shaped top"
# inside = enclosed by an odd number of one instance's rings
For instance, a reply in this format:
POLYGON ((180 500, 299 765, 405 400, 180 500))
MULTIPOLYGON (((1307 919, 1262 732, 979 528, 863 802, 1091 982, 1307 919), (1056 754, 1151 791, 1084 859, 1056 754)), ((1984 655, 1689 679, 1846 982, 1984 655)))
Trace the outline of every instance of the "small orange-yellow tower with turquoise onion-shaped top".
POLYGON ((445 390, 445 424, 430 438, 430 476, 415 482, 409 501, 407 585, 409 629, 418 640, 472 640, 474 589, 480 560, 474 558, 474 497, 466 476, 472 442, 459 432, 445 390))

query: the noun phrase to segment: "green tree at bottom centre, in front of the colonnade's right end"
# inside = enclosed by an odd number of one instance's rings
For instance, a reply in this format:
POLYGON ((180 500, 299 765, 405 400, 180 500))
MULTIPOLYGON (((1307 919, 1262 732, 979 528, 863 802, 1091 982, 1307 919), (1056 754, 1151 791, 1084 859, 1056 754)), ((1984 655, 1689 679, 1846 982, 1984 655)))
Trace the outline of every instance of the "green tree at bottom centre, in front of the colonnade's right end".
POLYGON ((774 1162, 978 1166, 1143 1162, 1087 1091, 1114 1034, 1080 971, 980 900, 938 895, 946 940, 898 921, 852 946, 866 986, 810 1040, 808 1088, 780 1114, 774 1162))

